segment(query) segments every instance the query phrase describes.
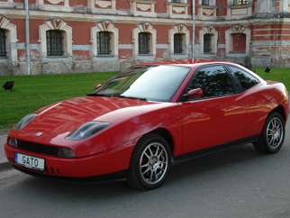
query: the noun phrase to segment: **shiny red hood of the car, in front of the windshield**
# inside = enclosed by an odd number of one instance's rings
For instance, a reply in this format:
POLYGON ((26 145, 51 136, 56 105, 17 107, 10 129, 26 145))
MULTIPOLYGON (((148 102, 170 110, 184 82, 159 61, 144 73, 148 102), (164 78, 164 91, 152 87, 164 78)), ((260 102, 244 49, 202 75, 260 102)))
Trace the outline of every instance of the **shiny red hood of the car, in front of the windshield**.
POLYGON ((128 107, 160 104, 118 97, 82 96, 50 104, 36 111, 36 116, 17 134, 18 139, 47 144, 59 144, 70 132, 89 121, 121 123, 128 113, 114 113, 128 107), (41 135, 39 137, 38 135, 41 135))

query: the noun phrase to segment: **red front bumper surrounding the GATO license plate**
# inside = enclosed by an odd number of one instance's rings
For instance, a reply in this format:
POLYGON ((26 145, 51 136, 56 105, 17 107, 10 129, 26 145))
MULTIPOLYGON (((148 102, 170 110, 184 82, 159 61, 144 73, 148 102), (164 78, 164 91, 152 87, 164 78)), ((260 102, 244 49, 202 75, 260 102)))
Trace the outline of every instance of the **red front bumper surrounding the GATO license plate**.
POLYGON ((54 177, 60 180, 71 180, 75 182, 91 182, 93 180, 122 179, 129 168, 133 146, 118 146, 111 150, 97 153, 95 155, 65 159, 44 155, 27 150, 20 150, 5 143, 5 155, 14 168, 38 177, 54 177), (19 166, 14 162, 14 153, 19 152, 26 155, 45 159, 43 171, 19 166))

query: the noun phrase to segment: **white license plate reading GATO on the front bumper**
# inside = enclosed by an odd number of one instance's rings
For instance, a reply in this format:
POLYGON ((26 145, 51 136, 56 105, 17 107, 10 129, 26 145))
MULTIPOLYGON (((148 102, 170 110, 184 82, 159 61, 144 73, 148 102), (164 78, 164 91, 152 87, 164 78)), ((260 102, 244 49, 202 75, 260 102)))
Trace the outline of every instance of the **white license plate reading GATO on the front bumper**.
POLYGON ((14 162, 15 164, 21 165, 25 168, 33 168, 43 171, 45 159, 15 152, 14 162))

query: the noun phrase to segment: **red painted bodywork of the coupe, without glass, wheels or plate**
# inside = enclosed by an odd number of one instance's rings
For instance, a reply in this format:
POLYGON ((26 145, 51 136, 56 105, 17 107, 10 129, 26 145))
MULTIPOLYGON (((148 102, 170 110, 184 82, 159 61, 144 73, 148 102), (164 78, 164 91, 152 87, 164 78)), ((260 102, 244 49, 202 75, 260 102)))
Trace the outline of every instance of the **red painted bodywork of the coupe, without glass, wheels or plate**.
MULTIPOLYGON (((170 102, 83 96, 51 104, 36 111, 39 115, 32 122, 21 131, 12 130, 8 137, 69 148, 74 151, 76 158, 66 159, 23 151, 5 143, 7 159, 14 165, 14 153, 25 153, 45 159, 45 170, 40 172, 22 166, 18 168, 58 177, 94 177, 128 169, 132 150, 148 132, 168 132, 172 156, 176 157, 258 135, 262 132, 267 114, 278 107, 282 108, 285 122, 288 119, 289 96, 285 86, 265 81, 257 75, 255 77, 260 82, 247 91, 196 101, 179 101, 198 68, 215 64, 242 68, 239 65, 209 60, 150 63, 159 64, 191 68, 170 102), (69 133, 90 121, 112 125, 82 141, 66 139, 69 133), (41 132, 40 136, 38 132, 41 132)), ((249 72, 246 68, 242 69, 249 72)))

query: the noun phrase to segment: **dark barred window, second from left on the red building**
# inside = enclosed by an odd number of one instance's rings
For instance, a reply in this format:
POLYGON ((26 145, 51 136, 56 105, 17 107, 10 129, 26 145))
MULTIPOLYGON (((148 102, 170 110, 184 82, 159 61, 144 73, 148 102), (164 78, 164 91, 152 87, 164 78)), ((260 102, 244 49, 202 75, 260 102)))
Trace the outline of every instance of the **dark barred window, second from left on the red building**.
POLYGON ((63 45, 62 45, 61 32, 59 31, 47 31, 46 42, 48 56, 62 56, 63 45))

